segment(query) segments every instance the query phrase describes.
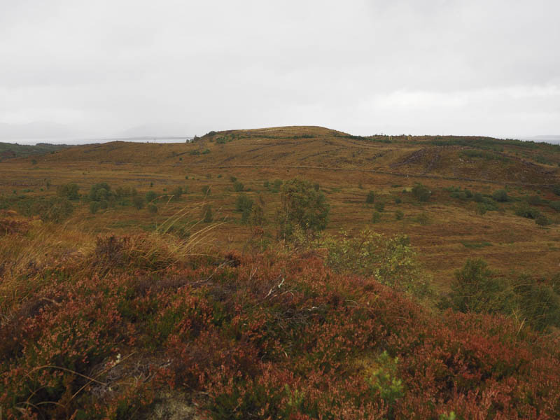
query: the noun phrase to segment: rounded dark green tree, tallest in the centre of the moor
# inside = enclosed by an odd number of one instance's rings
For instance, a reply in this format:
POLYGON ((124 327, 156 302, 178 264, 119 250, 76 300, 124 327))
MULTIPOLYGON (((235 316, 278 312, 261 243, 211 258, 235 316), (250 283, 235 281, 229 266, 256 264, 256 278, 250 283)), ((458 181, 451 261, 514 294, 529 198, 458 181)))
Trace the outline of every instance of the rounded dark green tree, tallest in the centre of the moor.
POLYGON ((316 191, 309 181, 297 178, 286 181, 282 187, 280 208, 276 214, 279 237, 289 239, 296 227, 305 232, 325 229, 329 211, 325 195, 316 191))

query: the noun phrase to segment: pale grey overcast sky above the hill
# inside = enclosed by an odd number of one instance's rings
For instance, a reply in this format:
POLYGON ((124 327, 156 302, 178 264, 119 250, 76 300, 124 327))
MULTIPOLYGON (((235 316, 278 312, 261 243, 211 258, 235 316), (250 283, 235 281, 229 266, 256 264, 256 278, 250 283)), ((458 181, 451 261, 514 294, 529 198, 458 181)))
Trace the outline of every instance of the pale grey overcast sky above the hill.
POLYGON ((0 0, 0 139, 560 134, 558 0, 0 0))

